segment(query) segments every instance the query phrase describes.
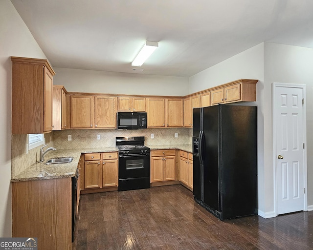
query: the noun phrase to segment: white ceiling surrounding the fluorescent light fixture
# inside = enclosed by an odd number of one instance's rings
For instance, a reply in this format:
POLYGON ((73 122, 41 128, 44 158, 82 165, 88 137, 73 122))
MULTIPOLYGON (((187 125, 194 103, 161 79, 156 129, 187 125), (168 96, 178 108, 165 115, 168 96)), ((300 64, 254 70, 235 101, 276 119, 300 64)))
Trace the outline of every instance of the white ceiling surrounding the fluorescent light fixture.
POLYGON ((261 42, 313 48, 313 0, 11 0, 53 67, 192 76, 261 42), (137 67, 138 68, 138 67, 137 67))

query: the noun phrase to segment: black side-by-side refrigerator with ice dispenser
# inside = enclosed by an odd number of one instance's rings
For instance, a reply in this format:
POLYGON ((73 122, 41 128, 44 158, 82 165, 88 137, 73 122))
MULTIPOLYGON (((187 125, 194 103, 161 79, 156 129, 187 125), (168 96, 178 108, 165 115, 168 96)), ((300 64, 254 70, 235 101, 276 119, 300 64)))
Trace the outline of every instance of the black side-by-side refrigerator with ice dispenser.
POLYGON ((256 106, 193 109, 193 193, 220 220, 257 214, 256 106))

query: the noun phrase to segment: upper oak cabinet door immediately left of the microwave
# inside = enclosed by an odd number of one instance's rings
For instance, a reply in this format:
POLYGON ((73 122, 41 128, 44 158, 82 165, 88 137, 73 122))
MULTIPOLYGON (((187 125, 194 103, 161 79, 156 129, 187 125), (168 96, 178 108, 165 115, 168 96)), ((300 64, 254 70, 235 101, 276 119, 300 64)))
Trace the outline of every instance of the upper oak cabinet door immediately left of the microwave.
POLYGON ((116 128, 116 97, 96 96, 94 99, 96 128, 116 128))

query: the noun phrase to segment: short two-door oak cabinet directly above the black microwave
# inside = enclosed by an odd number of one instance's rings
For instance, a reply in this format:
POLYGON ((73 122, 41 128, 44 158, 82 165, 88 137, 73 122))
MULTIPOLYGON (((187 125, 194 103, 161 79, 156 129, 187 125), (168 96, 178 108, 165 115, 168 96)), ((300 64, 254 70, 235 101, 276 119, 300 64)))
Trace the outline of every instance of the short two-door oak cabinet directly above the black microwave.
POLYGON ((118 111, 145 112, 146 98, 128 96, 118 97, 118 111))

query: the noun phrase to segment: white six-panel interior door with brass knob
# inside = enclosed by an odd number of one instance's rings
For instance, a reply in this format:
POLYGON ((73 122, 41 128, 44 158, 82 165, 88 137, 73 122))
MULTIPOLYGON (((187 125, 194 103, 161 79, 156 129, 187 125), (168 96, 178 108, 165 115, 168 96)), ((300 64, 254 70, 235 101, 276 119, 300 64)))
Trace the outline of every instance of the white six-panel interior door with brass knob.
POLYGON ((305 210, 304 88, 274 84, 276 214, 305 210))

